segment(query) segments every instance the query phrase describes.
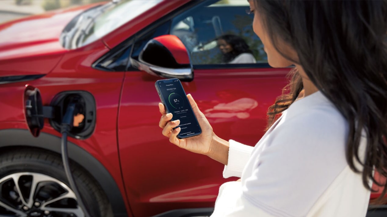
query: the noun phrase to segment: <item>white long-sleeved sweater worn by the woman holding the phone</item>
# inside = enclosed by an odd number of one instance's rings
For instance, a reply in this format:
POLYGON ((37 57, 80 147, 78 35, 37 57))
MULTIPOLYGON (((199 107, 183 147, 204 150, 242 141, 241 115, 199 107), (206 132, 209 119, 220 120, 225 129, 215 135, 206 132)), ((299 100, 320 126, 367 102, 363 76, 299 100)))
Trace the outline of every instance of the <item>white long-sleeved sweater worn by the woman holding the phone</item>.
MULTIPOLYGON (((344 117, 316 92, 284 111, 255 147, 230 140, 223 176, 241 181, 221 185, 211 217, 364 217, 370 191, 346 162, 347 135, 344 117)), ((360 147, 362 159, 365 139, 360 147)))

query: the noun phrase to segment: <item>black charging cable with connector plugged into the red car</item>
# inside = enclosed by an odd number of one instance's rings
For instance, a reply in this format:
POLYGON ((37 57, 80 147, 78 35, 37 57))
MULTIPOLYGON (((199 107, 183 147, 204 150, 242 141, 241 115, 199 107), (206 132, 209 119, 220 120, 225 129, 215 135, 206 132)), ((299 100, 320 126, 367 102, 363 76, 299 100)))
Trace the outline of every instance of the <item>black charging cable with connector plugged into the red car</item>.
POLYGON ((73 125, 73 118, 75 112, 76 103, 68 103, 67 110, 62 119, 62 124, 60 126, 60 132, 62 133, 62 141, 61 141, 61 152, 62 152, 62 161, 63 167, 65 168, 65 173, 67 176, 67 180, 70 183, 70 188, 75 193, 75 197, 77 197, 77 202, 80 208, 83 210, 85 217, 91 217, 89 212, 87 212, 86 206, 80 197, 80 193, 78 191, 77 185, 75 184, 74 177, 72 176, 70 170, 70 164, 68 163, 68 153, 67 153, 67 134, 70 132, 71 127, 73 125))

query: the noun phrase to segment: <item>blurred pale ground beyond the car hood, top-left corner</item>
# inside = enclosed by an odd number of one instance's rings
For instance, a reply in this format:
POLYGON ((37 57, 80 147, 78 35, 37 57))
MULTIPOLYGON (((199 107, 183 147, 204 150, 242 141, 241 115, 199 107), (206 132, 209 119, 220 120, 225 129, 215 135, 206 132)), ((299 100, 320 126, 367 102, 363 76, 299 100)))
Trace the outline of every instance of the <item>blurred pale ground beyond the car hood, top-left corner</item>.
POLYGON ((31 0, 29 4, 16 5, 15 0, 0 0, 0 23, 44 13, 41 2, 42 0, 31 0))

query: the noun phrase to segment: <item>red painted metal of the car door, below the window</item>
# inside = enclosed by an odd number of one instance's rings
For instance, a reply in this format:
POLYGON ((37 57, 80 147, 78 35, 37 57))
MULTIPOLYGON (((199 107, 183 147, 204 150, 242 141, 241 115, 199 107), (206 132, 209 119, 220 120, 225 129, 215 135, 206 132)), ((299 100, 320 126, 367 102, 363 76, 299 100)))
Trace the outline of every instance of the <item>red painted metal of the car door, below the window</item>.
MULTIPOLYGON (((264 134, 267 107, 281 93, 288 71, 194 70, 194 80, 182 84, 219 137, 253 146, 264 134)), ((154 88, 158 79, 143 71, 128 71, 123 85, 118 142, 133 213, 155 215, 168 211, 170 203, 176 209, 198 204, 213 207, 221 183, 235 178, 224 180, 223 165, 180 149, 161 134, 160 100, 154 88)))

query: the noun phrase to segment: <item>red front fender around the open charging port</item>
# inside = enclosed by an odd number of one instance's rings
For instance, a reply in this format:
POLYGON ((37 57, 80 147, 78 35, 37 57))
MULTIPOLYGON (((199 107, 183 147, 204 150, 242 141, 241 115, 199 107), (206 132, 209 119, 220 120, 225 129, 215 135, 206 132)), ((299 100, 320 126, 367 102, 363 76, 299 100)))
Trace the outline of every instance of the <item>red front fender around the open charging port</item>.
MULTIPOLYGON (((26 85, 39 88, 45 106, 50 105, 55 95, 63 91, 83 90, 91 93, 95 98, 97 110, 94 132, 87 139, 68 138, 68 141, 82 147, 103 164, 117 183, 122 197, 126 198, 116 135, 118 102, 124 73, 111 73, 91 67, 94 61, 108 51, 109 49, 103 42, 98 40, 88 46, 65 52, 60 61, 55 63, 56 66, 52 73, 42 78, 1 85, 0 108, 6 109, 7 112, 0 114, 0 129, 27 129, 24 114, 26 85)), ((28 61, 29 57, 20 59, 21 62, 28 61)), ((45 59, 45 61, 48 60, 45 59)), ((61 134, 51 127, 47 119, 45 119, 41 132, 61 137, 61 134)), ((60 144, 53 145, 59 146, 60 144)), ((126 199, 125 205, 128 214, 131 215, 126 199)))

